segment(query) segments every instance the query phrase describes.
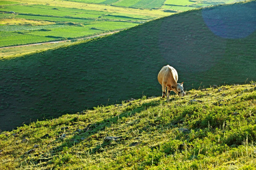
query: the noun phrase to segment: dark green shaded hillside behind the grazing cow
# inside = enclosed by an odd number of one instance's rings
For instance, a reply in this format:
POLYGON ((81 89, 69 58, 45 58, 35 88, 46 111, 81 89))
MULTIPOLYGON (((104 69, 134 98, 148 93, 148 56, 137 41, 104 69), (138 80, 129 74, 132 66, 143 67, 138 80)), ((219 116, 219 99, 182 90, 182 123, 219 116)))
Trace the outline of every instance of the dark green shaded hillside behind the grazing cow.
POLYGON ((176 68, 185 89, 255 81, 255 5, 192 10, 86 43, 2 59, 0 129, 161 95, 156 77, 166 64, 176 68), (234 31, 234 25, 246 27, 234 31), (230 32, 221 31, 229 26, 230 32))

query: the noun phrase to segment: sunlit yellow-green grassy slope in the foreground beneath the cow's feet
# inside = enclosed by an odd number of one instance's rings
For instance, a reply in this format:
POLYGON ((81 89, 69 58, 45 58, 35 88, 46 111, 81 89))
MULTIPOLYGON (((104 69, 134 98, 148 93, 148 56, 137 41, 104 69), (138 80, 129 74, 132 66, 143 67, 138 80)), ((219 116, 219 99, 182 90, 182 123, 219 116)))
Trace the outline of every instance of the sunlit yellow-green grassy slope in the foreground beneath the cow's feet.
POLYGON ((0 134, 0 169, 255 170, 256 85, 95 107, 0 134))

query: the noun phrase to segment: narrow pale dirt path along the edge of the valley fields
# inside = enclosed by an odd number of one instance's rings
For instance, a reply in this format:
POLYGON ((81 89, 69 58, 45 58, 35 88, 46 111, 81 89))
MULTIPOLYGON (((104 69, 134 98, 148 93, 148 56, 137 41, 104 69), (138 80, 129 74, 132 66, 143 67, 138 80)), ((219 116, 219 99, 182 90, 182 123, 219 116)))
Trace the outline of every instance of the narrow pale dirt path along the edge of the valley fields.
POLYGON ((73 40, 82 40, 82 39, 89 39, 89 38, 94 38, 98 36, 103 36, 103 35, 108 35, 108 34, 114 34, 117 33, 121 30, 118 31, 112 31, 108 33, 103 33, 103 34, 98 34, 98 35, 93 35, 89 37, 83 37, 83 38, 78 38, 78 39, 72 39, 72 40, 63 40, 63 41, 53 41, 53 42, 40 42, 40 43, 33 43, 33 44, 26 44, 26 45, 17 45, 17 46, 9 46, 9 47, 0 47, 0 49, 8 49, 8 48, 15 48, 15 47, 25 47, 25 46, 33 46, 33 45, 41 45, 41 44, 47 44, 47 43, 58 43, 58 42, 68 42, 68 41, 73 41, 73 40))

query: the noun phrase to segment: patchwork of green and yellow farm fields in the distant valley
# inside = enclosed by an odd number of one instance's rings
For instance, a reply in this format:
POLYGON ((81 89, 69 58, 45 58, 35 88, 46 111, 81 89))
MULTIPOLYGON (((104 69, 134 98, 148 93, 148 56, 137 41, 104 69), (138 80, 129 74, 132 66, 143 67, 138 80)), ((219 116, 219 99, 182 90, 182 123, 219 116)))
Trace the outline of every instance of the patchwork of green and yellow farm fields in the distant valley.
MULTIPOLYGON (((0 47, 82 38, 175 12, 235 1, 238 0, 1 0, 0 47)), ((42 50, 41 47, 29 51, 42 50)), ((3 53, 4 49, 0 49, 0 57, 6 56, 3 53)), ((13 50, 9 54, 26 53, 27 48, 19 48, 18 53, 13 50)))

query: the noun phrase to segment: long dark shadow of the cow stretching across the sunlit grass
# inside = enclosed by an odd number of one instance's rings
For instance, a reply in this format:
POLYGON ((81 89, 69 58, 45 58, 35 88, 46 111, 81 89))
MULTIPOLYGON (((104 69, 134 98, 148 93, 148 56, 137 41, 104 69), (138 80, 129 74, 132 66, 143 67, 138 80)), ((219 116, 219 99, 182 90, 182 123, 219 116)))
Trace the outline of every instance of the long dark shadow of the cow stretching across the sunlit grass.
MULTIPOLYGON (((127 117, 135 116, 136 114, 139 114, 141 111, 147 110, 148 107, 157 106, 160 103, 161 103, 160 100, 157 100, 157 101, 143 103, 139 107, 136 107, 136 105, 134 105, 132 108, 128 108, 127 106, 121 106, 121 107, 127 107, 127 110, 123 111, 121 114, 116 115, 115 117, 112 117, 110 119, 105 119, 103 121, 100 121, 100 122, 97 122, 94 124, 89 124, 83 130, 81 130, 81 132, 74 135, 71 139, 65 140, 63 144, 53 148, 53 152, 51 154, 55 155, 56 153, 62 151, 63 147, 70 148, 74 144, 79 144, 82 141, 91 140, 91 138, 99 140, 100 144, 98 144, 93 149, 89 149, 89 151, 85 151, 85 152, 89 152, 89 153, 101 152, 101 149, 103 149, 104 147, 109 145, 110 141, 104 140, 103 143, 101 143, 102 139, 105 139, 105 137, 107 137, 107 136, 106 135, 96 136, 96 134, 100 134, 100 132, 104 131, 106 127, 111 127, 112 124, 118 123, 119 120, 122 119, 123 117, 127 118, 127 117)), ((116 106, 116 107, 119 107, 119 106, 116 106)), ((134 123, 136 123, 136 122, 134 122, 134 123)), ((116 136, 116 137, 118 139, 120 139, 117 142, 120 142, 127 138, 126 136, 116 136)))

